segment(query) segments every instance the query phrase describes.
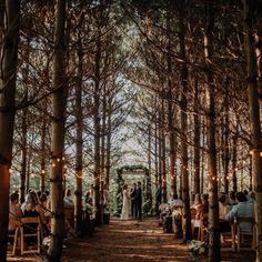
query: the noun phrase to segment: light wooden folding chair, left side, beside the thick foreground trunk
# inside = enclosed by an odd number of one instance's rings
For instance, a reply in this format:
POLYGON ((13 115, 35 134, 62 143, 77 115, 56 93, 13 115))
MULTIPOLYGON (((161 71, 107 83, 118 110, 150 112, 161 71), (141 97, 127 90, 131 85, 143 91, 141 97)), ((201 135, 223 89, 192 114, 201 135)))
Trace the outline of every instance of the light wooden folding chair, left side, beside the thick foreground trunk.
POLYGON ((20 226, 20 232, 21 232, 21 254, 26 254, 26 253, 38 253, 40 254, 40 250, 41 250, 41 233, 40 233, 40 218, 22 218, 21 219, 21 226, 20 226), (32 231, 36 232, 30 232, 30 233, 26 233, 24 229, 32 229, 32 231), (30 249, 30 250, 26 250, 24 248, 24 240, 27 238, 32 238, 36 236, 37 238, 37 248, 36 249, 30 249))

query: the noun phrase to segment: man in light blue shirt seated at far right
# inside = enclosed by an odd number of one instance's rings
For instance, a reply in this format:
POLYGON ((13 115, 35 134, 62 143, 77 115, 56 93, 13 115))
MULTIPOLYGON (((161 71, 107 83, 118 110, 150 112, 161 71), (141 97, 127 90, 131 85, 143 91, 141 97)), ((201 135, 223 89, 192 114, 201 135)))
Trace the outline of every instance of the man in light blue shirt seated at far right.
MULTIPOLYGON (((254 218, 254 205, 252 202, 246 200, 243 192, 236 193, 238 204, 233 205, 232 210, 225 215, 229 222, 232 222, 234 218, 254 218)), ((252 225, 250 223, 241 223, 241 231, 252 231, 252 225)))

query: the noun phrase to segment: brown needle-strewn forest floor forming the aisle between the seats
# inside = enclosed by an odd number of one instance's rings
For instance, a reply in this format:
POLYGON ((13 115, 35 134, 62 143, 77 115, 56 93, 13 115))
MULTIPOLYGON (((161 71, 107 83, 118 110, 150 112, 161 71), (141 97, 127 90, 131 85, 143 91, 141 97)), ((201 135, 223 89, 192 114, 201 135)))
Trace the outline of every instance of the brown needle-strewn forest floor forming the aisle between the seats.
MULTIPOLYGON (((189 250, 173 234, 163 233, 157 220, 141 222, 113 219, 95 228, 89 239, 67 241, 62 262, 179 262, 190 261, 189 250)), ((43 261, 40 256, 9 256, 8 261, 43 261)), ((206 261, 201 259, 200 261, 206 261)), ((254 262, 254 253, 222 250, 223 262, 254 262)))

